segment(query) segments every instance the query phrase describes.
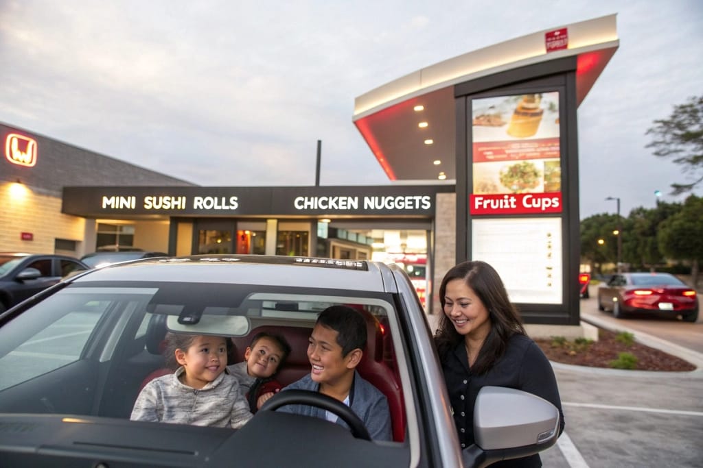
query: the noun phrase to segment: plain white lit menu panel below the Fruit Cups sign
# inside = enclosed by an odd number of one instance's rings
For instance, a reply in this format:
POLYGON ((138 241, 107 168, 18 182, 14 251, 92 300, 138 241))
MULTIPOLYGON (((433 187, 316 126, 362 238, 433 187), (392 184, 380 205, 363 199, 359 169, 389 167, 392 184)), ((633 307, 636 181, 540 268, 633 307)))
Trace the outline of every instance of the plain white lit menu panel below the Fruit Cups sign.
POLYGON ((496 269, 511 302, 562 304, 561 218, 473 219, 472 260, 496 269))

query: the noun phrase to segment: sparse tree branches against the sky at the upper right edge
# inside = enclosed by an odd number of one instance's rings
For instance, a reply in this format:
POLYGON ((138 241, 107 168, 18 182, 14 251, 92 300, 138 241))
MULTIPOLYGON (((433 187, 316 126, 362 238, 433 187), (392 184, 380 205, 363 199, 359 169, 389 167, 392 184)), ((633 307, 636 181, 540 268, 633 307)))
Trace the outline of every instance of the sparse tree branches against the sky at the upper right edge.
POLYGON ((654 148, 655 156, 673 156, 673 162, 694 179, 690 184, 671 184, 672 195, 690 192, 703 181, 703 96, 674 106, 669 119, 655 120, 646 134, 654 135, 646 147, 654 148))

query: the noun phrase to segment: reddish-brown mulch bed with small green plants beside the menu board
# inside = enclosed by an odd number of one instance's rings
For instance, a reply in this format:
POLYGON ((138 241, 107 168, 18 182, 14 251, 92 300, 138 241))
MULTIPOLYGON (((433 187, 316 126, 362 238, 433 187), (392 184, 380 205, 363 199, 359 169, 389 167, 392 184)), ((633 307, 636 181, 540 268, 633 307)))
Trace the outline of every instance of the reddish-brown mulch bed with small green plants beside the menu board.
POLYGON ((696 366, 676 356, 671 356, 659 349, 650 348, 640 343, 626 345, 616 340, 617 334, 602 328, 598 331, 598 341, 590 345, 575 347, 574 342, 559 345, 554 340, 538 339, 537 345, 550 361, 588 366, 612 368, 610 362, 618 359, 621 352, 631 353, 637 358, 635 370, 661 370, 667 372, 687 372, 696 366))

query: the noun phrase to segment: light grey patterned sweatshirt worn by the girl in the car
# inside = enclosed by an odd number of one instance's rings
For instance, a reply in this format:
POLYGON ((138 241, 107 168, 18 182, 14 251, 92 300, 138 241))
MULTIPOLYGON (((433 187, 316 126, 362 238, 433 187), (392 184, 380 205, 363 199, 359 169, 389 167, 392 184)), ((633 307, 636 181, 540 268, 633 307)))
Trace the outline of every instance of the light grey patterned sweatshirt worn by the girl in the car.
POLYGON ((183 372, 181 367, 149 382, 137 396, 129 419, 238 429, 252 418, 235 377, 223 372, 198 390, 181 383, 183 372))

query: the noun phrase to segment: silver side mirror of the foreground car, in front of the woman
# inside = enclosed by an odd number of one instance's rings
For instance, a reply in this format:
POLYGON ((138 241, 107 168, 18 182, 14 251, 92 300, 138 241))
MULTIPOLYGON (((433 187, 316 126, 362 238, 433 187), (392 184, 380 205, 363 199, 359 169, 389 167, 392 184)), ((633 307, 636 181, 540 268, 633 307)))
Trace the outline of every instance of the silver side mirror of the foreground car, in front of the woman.
POLYGON ((554 445, 559 410, 539 396, 505 387, 483 387, 474 406, 475 443, 463 451, 467 467, 527 457, 554 445))

